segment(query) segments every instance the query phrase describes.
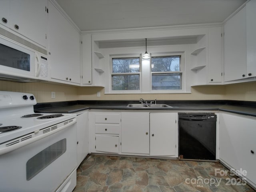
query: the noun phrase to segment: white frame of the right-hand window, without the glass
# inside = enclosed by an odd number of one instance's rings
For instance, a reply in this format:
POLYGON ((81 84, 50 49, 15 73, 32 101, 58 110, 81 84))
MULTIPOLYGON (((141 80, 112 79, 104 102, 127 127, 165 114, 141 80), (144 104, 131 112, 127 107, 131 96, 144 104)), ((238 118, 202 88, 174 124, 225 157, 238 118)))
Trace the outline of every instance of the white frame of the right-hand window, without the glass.
POLYGON ((184 93, 185 90, 185 79, 184 79, 184 52, 169 52, 169 53, 156 53, 150 54, 150 93, 184 93), (152 72, 151 64, 152 57, 172 57, 172 56, 180 56, 180 71, 166 71, 166 72, 152 72), (181 74, 181 89, 160 89, 154 90, 152 89, 152 74, 181 74))

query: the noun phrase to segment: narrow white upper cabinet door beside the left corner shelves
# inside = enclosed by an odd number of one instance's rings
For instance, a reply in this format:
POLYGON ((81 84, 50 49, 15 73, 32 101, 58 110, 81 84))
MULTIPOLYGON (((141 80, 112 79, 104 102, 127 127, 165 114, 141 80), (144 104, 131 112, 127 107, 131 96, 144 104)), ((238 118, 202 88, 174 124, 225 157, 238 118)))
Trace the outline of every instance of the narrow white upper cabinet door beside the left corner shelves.
POLYGON ((82 35, 82 84, 92 84, 92 38, 82 35))

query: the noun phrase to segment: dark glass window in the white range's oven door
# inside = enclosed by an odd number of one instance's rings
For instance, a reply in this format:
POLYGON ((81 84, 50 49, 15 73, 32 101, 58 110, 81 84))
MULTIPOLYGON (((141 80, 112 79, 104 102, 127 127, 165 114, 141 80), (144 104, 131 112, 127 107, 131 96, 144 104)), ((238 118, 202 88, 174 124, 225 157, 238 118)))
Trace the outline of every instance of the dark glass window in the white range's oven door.
POLYGON ((32 179, 40 171, 54 162, 54 160, 64 154, 67 148, 66 143, 67 140, 62 139, 30 158, 26 163, 27 180, 32 179))

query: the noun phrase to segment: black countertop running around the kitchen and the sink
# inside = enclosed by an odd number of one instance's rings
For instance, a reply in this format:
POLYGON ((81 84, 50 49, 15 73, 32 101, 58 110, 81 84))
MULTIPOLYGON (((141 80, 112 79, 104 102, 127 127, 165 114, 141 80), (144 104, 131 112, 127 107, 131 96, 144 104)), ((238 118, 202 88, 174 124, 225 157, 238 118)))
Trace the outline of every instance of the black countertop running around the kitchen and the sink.
POLYGON ((168 104, 172 108, 128 108, 130 103, 139 104, 138 101, 69 101, 40 103, 34 106, 38 113, 77 113, 87 109, 99 110, 209 110, 225 111, 256 117, 256 102, 229 101, 229 100, 203 100, 203 101, 158 101, 158 104, 168 104))

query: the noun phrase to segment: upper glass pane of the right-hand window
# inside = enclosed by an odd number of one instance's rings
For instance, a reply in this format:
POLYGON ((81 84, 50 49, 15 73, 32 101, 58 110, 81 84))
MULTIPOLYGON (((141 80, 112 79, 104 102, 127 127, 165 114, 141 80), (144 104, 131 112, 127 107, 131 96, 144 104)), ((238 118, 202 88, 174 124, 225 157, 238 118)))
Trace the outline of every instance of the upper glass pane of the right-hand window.
POLYGON ((152 72, 180 71, 180 56, 152 57, 152 72))

